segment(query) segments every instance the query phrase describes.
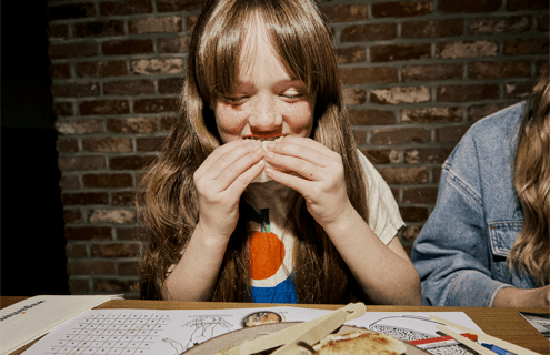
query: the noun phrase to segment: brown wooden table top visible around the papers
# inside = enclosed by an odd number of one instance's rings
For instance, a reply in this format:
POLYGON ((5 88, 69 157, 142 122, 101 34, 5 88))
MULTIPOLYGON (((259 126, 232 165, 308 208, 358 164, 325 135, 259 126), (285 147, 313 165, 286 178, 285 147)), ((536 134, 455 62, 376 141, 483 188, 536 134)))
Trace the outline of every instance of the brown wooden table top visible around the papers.
MULTIPOLYGON (((7 307, 27 297, 0 297, 0 307, 7 307)), ((272 307, 281 304, 221 303, 221 302, 170 302, 170 301, 109 301, 97 310, 221 310, 272 307)), ((284 304, 284 306, 289 306, 284 304)), ((337 310, 342 305, 296 305, 308 308, 337 310)), ((478 307, 413 307, 413 306, 367 306, 367 312, 464 312, 483 332, 503 341, 529 348, 540 354, 550 354, 550 342, 527 323, 518 312, 550 313, 548 308, 478 308, 478 307)), ((30 344, 31 345, 31 344, 30 344)), ((11 353, 21 354, 30 345, 11 353)), ((520 354, 518 354, 520 355, 520 354)))

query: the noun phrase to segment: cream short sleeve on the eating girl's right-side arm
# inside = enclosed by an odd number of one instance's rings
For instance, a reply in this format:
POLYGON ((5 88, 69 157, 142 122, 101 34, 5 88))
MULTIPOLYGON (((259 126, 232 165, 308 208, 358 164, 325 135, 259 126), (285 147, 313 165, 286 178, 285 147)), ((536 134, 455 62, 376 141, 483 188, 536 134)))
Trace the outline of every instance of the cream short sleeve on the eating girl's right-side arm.
POLYGON ((360 151, 358 151, 358 155, 367 179, 369 226, 388 245, 404 225, 404 222, 390 186, 367 156, 360 151))

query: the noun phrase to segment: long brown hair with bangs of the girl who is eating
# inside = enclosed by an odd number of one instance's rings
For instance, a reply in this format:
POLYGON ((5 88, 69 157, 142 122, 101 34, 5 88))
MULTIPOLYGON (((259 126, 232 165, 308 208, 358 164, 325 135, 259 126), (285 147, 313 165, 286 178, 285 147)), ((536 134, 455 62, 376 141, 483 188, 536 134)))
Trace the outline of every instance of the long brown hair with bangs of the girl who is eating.
MULTIPOLYGON (((232 93, 243 40, 258 18, 289 74, 303 81, 308 94, 317 98, 311 138, 340 153, 348 196, 367 221, 367 181, 342 102, 330 31, 317 6, 310 0, 208 1, 191 38, 181 116, 138 193, 137 207, 149 241, 143 251, 142 297, 167 294, 167 271, 179 262, 198 223, 192 175, 220 145, 210 106, 217 98, 232 93)), ((286 229, 297 236, 292 277, 298 301, 366 301, 327 233, 307 211, 303 197, 294 192, 289 206, 286 229)), ((248 230, 241 219, 230 237, 212 300, 251 301, 248 265, 248 230)))

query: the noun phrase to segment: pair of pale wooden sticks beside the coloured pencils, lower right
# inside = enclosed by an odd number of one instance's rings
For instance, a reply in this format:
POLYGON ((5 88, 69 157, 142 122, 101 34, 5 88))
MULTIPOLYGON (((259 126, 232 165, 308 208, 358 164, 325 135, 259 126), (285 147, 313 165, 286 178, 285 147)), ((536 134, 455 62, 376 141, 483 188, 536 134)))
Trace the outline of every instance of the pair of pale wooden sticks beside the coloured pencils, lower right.
MULTIPOLYGON (((487 342, 487 343, 497 345, 498 347, 501 347, 501 348, 503 348, 506 351, 509 351, 511 353, 521 354, 521 355, 540 355, 539 353, 532 352, 532 351, 527 349, 524 347, 521 347, 519 345, 516 345, 516 344, 512 344, 512 343, 508 343, 506 341, 499 339, 498 337, 494 337, 494 336, 490 336, 490 335, 488 335, 486 333, 482 333, 482 332, 470 329, 470 328, 468 328, 466 326, 462 326, 462 325, 457 324, 457 323, 452 323, 450 321, 440 318, 440 317, 434 316, 434 315, 430 315, 430 320, 436 321, 436 322, 439 322, 441 324, 444 324, 444 325, 447 325, 449 327, 452 327, 452 328, 454 328, 457 331, 460 331, 462 333, 476 334, 478 336, 478 339, 479 341, 483 341, 483 342, 487 342)), ((479 345, 478 343, 474 343, 474 342, 468 339, 464 336, 461 336, 458 333, 454 333, 454 332, 450 331, 449 328, 446 328, 446 327, 443 327, 441 325, 437 325, 436 328, 438 328, 439 331, 441 331, 441 332, 443 332, 443 333, 452 336, 457 342, 462 343, 462 344, 464 344, 468 347, 471 347, 472 349, 474 349, 476 352, 478 352, 480 354, 483 354, 483 355, 484 354, 494 355, 493 352, 484 348, 483 346, 479 345)))

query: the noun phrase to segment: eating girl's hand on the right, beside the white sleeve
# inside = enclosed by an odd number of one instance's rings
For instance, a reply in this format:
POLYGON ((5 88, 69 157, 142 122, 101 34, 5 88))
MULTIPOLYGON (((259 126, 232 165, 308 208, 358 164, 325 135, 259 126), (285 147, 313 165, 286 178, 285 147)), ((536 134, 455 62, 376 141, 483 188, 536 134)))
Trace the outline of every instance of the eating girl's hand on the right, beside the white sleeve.
POLYGON ((342 221, 353 210, 340 154, 311 139, 294 136, 268 143, 267 148, 266 162, 273 168, 266 168, 266 174, 298 191, 321 226, 342 221))

